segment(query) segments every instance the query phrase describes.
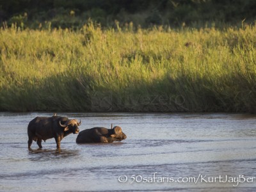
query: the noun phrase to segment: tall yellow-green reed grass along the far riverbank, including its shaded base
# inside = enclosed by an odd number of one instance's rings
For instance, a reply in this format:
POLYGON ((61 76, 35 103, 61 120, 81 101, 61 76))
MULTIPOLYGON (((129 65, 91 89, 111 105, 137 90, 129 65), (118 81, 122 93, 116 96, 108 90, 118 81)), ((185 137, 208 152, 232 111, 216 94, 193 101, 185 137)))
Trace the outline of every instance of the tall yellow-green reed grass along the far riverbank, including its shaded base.
POLYGON ((0 30, 1 111, 256 111, 256 26, 0 30))

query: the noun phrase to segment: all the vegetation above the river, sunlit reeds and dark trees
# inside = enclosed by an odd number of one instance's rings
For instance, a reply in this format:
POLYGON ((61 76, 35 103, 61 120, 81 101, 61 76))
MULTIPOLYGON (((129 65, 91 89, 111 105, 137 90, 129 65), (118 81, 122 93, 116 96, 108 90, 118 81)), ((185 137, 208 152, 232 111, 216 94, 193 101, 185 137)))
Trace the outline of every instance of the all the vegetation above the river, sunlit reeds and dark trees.
POLYGON ((256 112, 255 1, 93 2, 0 3, 0 111, 256 112))

